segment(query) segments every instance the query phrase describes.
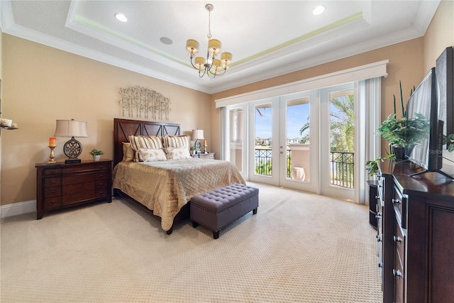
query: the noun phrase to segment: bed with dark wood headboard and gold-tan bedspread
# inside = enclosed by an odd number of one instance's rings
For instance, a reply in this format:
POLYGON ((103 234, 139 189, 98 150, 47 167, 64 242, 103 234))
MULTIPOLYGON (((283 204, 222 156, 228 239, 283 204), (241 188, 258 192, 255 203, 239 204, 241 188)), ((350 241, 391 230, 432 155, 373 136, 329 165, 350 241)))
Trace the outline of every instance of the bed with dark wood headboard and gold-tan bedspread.
MULTIPOLYGON (((167 145, 184 138, 181 132, 181 125, 176 123, 114 119, 112 186, 116 193, 126 194, 157 216, 167 234, 172 233, 176 221, 189 217, 189 202, 192 197, 229 184, 245 184, 231 162, 190 156, 172 158, 172 148, 179 150, 182 147, 167 145), (167 159, 140 158, 137 150, 134 151, 134 157, 144 162, 131 160, 128 156, 131 150, 127 150, 125 146, 128 143, 134 145, 136 138, 142 138, 140 136, 162 138, 162 149, 166 150, 167 159), (130 138, 133 138, 133 142, 130 142, 130 138)), ((189 155, 189 146, 186 148, 189 155)))

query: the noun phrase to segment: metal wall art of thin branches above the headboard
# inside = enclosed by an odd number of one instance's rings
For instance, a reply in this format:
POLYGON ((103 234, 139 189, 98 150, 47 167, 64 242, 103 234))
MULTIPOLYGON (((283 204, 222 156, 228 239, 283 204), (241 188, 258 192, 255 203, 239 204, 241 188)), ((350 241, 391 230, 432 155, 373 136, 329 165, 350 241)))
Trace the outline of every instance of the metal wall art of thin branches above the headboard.
POLYGON ((118 97, 123 117, 169 120, 170 99, 159 92, 136 85, 121 88, 118 97))

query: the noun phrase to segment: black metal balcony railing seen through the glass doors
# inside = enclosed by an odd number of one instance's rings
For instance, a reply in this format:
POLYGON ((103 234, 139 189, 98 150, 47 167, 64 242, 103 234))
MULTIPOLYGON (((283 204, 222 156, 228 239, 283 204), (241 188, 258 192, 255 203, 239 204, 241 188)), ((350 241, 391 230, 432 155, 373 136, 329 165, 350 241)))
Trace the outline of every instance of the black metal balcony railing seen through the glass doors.
MULTIPOLYGON (((292 170, 292 150, 287 150, 287 177, 290 177, 292 170)), ((348 152, 330 152, 330 183, 333 185, 353 188, 354 177, 353 171, 355 163, 353 162, 355 153, 348 152)), ((272 175, 272 150, 256 149, 255 150, 255 174, 262 176, 272 175)))

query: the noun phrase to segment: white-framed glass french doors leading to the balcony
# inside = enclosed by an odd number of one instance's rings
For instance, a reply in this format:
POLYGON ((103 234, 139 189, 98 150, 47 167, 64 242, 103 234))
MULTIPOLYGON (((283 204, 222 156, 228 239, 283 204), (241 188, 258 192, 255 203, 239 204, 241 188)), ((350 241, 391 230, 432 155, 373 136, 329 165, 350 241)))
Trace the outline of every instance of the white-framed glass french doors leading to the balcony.
POLYGON ((354 199, 354 99, 345 84, 250 102, 249 180, 354 199))

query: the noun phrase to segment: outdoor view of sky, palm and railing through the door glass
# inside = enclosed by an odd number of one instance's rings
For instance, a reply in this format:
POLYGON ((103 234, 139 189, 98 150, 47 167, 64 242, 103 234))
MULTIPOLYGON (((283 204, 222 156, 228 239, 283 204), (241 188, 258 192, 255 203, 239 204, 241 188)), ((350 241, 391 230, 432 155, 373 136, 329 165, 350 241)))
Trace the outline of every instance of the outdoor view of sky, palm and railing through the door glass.
MULTIPOLYGON (((327 160, 331 163, 331 184, 353 188, 355 98, 353 94, 336 94, 330 99, 331 152, 327 160)), ((287 101, 286 142, 287 178, 309 182, 309 98, 287 101)), ((272 145, 272 107, 261 104, 255 108, 255 174, 272 175, 272 145)))

